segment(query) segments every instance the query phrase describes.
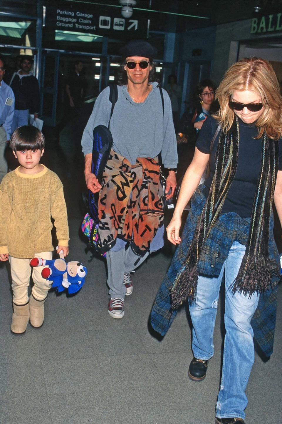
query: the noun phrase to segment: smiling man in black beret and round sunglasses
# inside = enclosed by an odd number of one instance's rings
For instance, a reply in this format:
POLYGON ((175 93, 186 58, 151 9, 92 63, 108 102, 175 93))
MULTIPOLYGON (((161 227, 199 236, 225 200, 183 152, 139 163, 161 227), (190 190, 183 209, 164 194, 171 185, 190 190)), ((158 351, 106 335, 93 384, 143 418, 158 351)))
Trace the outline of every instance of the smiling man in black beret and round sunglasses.
POLYGON ((107 87, 98 96, 82 136, 85 181, 93 193, 100 192, 97 245, 101 253, 106 252, 112 318, 124 315, 124 297, 133 290, 131 272, 164 243, 159 153, 168 168, 167 199, 176 187, 178 157, 171 103, 156 82, 156 54, 155 47, 144 40, 132 40, 120 49, 118 100, 112 117, 107 87), (99 184, 91 173, 93 128, 109 122, 113 145, 99 184))

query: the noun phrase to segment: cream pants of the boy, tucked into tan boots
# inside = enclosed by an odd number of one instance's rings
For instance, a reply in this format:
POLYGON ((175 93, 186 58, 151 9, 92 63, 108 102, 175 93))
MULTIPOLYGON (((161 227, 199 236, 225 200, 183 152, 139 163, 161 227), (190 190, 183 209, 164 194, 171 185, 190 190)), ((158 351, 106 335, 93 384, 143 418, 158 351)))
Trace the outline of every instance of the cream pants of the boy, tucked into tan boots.
MULTIPOLYGON (((52 252, 36 253, 35 257, 52 259, 52 252)), ((13 302, 16 305, 25 305, 28 302, 28 286, 30 283, 31 266, 30 259, 19 259, 9 256, 11 265, 13 302)), ((44 300, 51 288, 52 281, 41 277, 43 266, 33 267, 32 279, 34 282, 31 293, 36 300, 44 300)))

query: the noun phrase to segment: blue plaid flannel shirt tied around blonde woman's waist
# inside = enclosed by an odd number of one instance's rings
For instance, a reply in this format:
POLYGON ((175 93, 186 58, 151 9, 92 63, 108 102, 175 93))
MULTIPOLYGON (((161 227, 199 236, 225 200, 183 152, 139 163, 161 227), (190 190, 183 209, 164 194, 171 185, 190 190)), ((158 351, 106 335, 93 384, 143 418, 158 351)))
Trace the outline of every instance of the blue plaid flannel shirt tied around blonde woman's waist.
MULTIPOLYGON (((177 313, 171 308, 170 290, 183 267, 190 243, 192 242, 197 220, 205 205, 204 184, 201 184, 191 200, 191 209, 187 217, 181 243, 175 251, 172 263, 167 275, 162 282, 159 292, 153 304, 151 312, 151 324, 153 329, 161 335, 165 335, 177 313)), ((222 265, 227 258, 231 245, 234 241, 246 245, 249 235, 251 218, 241 218, 235 212, 228 212, 219 216, 211 229, 200 255, 197 270, 199 275, 217 277, 222 265)), ((274 259, 277 267, 273 270, 271 287, 265 293, 260 294, 257 310, 252 318, 254 337, 263 354, 269 357, 273 351, 274 329, 277 310, 277 284, 279 282, 279 254, 273 236, 273 216, 269 225, 268 253, 270 259, 274 259)))

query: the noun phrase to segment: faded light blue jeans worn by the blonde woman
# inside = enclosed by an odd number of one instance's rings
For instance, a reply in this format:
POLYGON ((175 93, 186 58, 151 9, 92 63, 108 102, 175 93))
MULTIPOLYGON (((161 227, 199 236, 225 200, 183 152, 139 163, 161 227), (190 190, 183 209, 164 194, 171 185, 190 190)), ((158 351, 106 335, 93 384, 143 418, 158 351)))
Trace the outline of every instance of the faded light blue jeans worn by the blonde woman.
POLYGON ((245 418, 246 385, 255 359, 251 319, 257 309, 259 295, 249 298, 236 292, 232 285, 245 253, 245 246, 237 241, 230 248, 218 277, 200 276, 196 301, 189 305, 192 318, 192 351, 194 357, 208 360, 214 354, 213 334, 217 302, 225 272, 225 340, 222 379, 216 404, 219 418, 245 418))

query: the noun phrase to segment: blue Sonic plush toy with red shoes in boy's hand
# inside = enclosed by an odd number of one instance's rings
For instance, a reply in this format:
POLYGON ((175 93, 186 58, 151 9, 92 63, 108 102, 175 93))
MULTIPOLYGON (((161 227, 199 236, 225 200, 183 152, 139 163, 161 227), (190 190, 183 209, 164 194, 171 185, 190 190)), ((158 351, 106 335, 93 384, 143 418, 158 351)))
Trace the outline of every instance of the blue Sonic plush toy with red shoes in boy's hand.
POLYGON ((42 259, 33 258, 30 261, 31 266, 44 266, 41 272, 43 278, 52 281, 52 287, 57 287, 60 293, 67 289, 69 294, 77 293, 83 286, 87 269, 81 262, 71 261, 66 263, 63 253, 60 252, 60 259, 42 259))

